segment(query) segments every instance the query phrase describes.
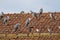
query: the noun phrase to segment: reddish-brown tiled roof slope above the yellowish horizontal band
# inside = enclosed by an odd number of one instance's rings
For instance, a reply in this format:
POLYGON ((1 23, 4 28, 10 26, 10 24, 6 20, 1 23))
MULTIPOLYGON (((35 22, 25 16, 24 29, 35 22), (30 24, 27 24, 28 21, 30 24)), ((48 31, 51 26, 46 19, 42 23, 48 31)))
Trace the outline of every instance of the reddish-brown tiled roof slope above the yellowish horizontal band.
POLYGON ((49 33, 48 29, 51 29, 52 33, 60 33, 60 13, 53 13, 55 20, 52 20, 49 13, 42 13, 37 19, 31 14, 4 14, 3 17, 9 16, 9 20, 6 24, 0 20, 0 33, 29 33, 29 27, 33 27, 31 32, 37 33, 36 29, 39 29, 40 33, 49 33), (29 27, 25 26, 27 18, 31 18, 29 27), (13 32, 14 25, 20 23, 18 30, 13 32))

